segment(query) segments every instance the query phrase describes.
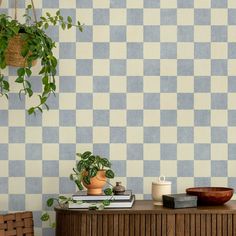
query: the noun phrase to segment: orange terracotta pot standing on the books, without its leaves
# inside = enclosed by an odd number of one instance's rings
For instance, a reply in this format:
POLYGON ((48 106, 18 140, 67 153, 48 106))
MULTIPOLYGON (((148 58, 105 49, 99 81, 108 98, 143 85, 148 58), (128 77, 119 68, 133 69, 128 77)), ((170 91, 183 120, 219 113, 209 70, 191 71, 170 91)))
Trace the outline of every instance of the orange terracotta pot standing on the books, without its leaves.
MULTIPOLYGON (((86 173, 85 173, 86 175, 86 173)), ((88 195, 100 195, 102 194, 102 189, 106 185, 105 170, 99 170, 97 175, 90 179, 90 184, 87 185, 83 181, 83 185, 87 188, 88 195)))

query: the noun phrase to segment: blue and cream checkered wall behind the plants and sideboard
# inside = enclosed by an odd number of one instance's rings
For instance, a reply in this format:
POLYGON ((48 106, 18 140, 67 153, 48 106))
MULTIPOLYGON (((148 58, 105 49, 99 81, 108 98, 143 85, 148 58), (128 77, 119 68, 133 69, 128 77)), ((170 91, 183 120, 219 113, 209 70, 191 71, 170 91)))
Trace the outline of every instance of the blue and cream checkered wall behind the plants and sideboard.
MULTIPOLYGON (((34 210, 40 234, 45 199, 75 191, 68 175, 85 150, 110 157, 137 198, 150 197, 159 175, 173 192, 236 188, 235 0, 35 4, 85 27, 49 29, 59 58, 50 112, 27 116, 32 101, 20 102, 13 83, 0 100, 0 210, 34 210)), ((2 7, 13 14, 12 0, 2 7)), ((5 73, 14 81, 15 69, 5 73)), ((32 83, 41 90, 37 76, 32 83)))

